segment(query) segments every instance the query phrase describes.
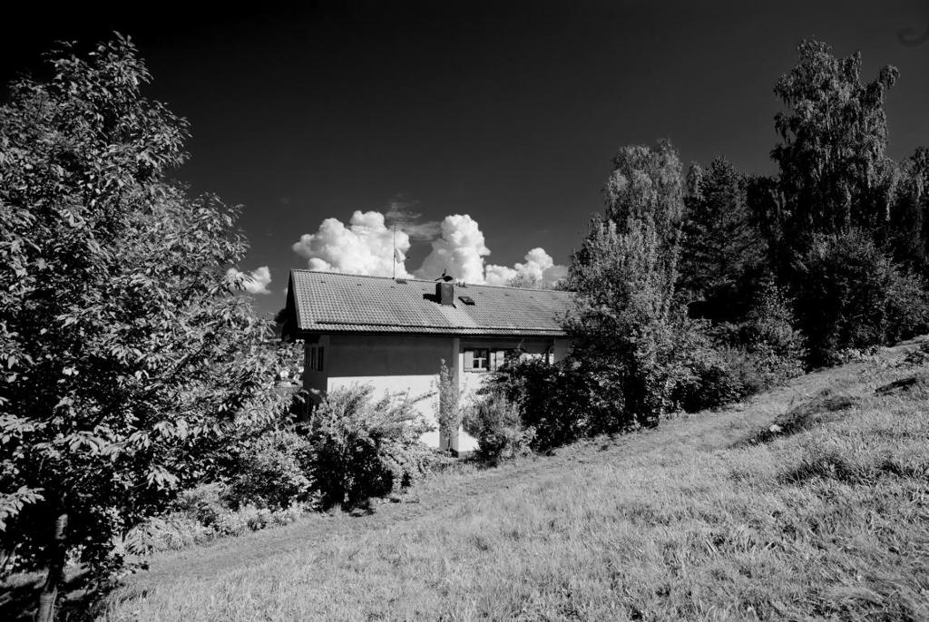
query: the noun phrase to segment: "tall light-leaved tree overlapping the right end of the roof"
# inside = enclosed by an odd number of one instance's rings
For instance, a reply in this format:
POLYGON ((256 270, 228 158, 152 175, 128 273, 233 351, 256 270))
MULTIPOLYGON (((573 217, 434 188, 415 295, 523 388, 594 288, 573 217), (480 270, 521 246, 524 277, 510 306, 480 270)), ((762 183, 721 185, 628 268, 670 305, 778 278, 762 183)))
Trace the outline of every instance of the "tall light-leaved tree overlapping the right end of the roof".
POLYGON ((656 424, 672 408, 674 343, 683 316, 675 301, 680 161, 669 142, 623 148, 613 159, 605 216, 595 216, 571 255, 566 318, 574 352, 591 373, 622 388, 627 420, 656 424))

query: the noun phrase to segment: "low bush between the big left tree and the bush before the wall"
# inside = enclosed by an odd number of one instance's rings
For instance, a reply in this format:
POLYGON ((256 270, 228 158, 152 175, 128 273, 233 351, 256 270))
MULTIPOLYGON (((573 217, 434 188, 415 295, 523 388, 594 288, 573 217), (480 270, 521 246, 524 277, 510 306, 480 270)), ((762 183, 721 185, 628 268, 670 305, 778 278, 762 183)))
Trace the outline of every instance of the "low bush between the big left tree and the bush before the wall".
POLYGON ((312 447, 294 432, 272 431, 258 436, 242 451, 229 478, 229 501, 242 505, 285 508, 312 498, 313 482, 307 477, 312 447))

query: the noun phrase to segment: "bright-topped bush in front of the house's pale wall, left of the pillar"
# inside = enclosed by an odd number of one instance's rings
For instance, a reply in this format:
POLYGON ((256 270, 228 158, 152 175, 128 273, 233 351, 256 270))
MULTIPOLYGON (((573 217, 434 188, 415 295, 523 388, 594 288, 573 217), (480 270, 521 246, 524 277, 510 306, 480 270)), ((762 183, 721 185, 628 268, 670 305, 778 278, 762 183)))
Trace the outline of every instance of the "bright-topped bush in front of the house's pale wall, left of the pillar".
POLYGON ((419 442, 429 428, 412 400, 372 395, 370 385, 336 389, 310 418, 310 473, 326 507, 354 507, 409 486, 435 460, 419 442))

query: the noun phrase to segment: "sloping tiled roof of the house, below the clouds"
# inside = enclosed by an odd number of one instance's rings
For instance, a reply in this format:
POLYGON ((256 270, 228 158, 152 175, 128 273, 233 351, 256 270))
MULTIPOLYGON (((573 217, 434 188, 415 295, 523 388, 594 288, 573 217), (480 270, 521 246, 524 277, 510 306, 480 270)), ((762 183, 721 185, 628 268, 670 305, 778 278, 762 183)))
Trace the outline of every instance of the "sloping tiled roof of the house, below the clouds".
POLYGON ((571 306, 570 292, 457 283, 440 305, 433 281, 312 270, 291 271, 290 294, 298 332, 560 336, 571 306))

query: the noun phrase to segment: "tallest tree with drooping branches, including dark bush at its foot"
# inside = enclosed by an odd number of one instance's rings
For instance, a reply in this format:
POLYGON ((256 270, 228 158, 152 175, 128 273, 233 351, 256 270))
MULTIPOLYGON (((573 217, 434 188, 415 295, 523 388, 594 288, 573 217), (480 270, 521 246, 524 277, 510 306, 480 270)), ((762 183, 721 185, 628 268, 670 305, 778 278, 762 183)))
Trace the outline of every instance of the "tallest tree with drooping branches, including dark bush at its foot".
POLYGON ((809 362, 844 348, 888 343, 924 321, 922 283, 907 267, 924 253, 921 152, 901 167, 887 157, 885 93, 896 68, 861 80, 861 55, 835 58, 806 41, 775 93, 782 142, 776 192, 754 185, 752 202, 771 234, 779 277, 796 299, 809 362))

